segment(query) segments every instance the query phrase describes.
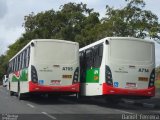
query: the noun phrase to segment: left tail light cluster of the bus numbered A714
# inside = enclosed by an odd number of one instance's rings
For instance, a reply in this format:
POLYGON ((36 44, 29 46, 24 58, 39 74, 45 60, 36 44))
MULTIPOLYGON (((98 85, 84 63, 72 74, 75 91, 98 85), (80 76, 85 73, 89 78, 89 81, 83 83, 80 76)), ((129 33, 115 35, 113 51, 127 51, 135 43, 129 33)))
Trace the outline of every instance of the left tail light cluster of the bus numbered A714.
POLYGON ((109 68, 109 66, 107 66, 106 65, 106 70, 105 70, 105 75, 106 75, 106 83, 108 84, 108 85, 113 85, 113 81, 112 81, 112 72, 111 72, 111 70, 110 70, 110 68, 109 68))

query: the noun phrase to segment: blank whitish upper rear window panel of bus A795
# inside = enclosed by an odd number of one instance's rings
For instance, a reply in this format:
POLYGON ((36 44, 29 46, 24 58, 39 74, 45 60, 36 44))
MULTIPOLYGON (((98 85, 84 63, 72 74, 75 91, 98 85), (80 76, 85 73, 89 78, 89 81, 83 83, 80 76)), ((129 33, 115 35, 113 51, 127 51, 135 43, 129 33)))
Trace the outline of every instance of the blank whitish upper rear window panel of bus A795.
POLYGON ((37 62, 72 63, 77 60, 78 45, 61 42, 39 42, 35 46, 37 62))

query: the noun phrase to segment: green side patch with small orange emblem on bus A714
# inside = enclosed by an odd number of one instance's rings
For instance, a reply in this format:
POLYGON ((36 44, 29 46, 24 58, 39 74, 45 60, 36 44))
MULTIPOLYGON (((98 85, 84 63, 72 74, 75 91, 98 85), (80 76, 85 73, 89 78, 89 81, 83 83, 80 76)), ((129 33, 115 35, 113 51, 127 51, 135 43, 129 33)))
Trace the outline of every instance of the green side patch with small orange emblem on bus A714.
POLYGON ((86 83, 99 82, 99 68, 92 68, 86 72, 86 83))

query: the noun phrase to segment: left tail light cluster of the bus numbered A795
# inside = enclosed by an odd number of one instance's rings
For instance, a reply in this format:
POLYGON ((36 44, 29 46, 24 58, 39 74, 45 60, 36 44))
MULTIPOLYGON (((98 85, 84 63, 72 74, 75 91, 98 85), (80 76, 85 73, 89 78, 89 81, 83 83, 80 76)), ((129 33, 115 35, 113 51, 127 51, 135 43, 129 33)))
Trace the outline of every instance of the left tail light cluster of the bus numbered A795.
POLYGON ((31 80, 33 83, 38 83, 37 70, 33 65, 31 65, 31 80))

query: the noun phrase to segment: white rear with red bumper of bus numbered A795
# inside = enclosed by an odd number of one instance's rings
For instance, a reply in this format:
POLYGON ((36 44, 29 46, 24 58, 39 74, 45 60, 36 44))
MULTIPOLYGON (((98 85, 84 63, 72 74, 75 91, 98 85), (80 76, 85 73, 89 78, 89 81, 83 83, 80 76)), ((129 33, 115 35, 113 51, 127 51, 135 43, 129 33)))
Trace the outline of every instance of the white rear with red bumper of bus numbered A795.
POLYGON ((78 44, 34 42, 29 92, 79 92, 78 44))

